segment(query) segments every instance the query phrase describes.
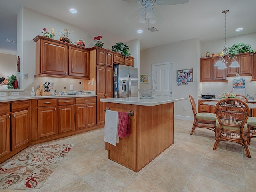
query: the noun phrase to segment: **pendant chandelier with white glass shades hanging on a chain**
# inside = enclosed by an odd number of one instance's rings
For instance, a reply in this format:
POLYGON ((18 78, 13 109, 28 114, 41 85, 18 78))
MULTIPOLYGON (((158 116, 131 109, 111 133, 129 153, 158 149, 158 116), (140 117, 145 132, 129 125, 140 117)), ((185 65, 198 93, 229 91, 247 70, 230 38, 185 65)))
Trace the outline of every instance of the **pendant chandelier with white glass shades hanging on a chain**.
POLYGON ((237 57, 231 57, 228 55, 228 48, 227 48, 227 19, 226 19, 226 14, 229 12, 229 10, 224 10, 222 13, 225 14, 225 48, 223 49, 223 56, 219 56, 219 60, 216 62, 214 66, 218 67, 218 69, 226 69, 227 66, 226 64, 228 63, 228 60, 233 59, 234 61, 229 67, 240 67, 238 62, 236 61, 237 57), (226 59, 226 60, 225 60, 226 59))

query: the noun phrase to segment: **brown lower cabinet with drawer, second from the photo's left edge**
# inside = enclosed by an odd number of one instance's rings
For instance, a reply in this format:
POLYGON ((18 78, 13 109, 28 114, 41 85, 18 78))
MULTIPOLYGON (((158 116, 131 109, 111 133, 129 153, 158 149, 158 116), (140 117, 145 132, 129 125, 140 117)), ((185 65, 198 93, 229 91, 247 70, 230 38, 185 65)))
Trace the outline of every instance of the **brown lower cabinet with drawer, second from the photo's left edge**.
POLYGON ((29 100, 11 103, 12 150, 30 142, 29 100))

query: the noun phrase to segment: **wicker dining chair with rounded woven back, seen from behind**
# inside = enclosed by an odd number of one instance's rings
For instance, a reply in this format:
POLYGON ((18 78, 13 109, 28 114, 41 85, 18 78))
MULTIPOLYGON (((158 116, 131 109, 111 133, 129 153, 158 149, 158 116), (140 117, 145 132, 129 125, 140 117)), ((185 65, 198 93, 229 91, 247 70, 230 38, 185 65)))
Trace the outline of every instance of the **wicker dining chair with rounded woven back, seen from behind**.
POLYGON ((247 124, 250 114, 248 105, 237 98, 220 100, 215 106, 216 137, 213 150, 220 141, 236 142, 244 147, 247 157, 251 157, 247 144, 247 124))

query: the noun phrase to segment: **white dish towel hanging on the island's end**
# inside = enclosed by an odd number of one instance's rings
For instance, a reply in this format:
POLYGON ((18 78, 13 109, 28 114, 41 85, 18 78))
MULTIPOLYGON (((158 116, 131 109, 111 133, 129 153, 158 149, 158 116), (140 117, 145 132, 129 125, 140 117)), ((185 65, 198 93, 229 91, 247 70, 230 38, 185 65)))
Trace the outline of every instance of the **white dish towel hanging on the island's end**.
POLYGON ((118 112, 106 110, 105 114, 105 136, 104 141, 114 146, 119 142, 118 132, 118 112))

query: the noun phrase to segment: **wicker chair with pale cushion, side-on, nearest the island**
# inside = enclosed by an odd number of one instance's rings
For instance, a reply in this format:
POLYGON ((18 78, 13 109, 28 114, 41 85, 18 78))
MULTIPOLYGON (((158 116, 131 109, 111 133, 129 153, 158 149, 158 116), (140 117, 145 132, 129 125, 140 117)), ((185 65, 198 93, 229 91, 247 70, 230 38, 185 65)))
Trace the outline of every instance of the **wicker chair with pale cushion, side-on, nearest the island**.
POLYGON ((194 133, 196 128, 206 128, 215 132, 216 115, 214 113, 197 113, 196 102, 192 95, 189 95, 189 99, 194 114, 194 122, 190 135, 194 133))

